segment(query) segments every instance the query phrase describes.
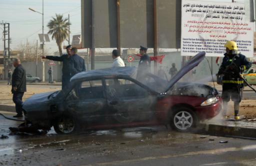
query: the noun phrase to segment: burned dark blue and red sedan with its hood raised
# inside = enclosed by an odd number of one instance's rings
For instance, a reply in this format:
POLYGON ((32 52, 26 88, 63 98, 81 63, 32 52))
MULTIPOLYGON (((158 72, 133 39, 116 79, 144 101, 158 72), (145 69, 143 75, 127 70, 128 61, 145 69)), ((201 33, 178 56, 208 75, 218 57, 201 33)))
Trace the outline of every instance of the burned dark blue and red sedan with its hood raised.
POLYGON ((204 58, 194 56, 170 81, 148 74, 146 83, 133 78, 134 67, 90 70, 74 75, 61 91, 36 94, 23 104, 26 123, 58 134, 81 128, 104 129, 167 125, 189 131, 200 120, 216 116, 221 98, 202 84, 177 83, 204 58))

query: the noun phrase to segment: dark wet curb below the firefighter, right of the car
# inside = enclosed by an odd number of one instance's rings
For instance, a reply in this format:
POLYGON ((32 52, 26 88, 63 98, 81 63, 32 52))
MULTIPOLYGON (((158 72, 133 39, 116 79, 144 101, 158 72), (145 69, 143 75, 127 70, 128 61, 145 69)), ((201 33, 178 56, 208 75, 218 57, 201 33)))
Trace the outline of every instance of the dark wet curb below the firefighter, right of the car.
POLYGON ((256 128, 232 127, 223 125, 205 125, 205 132, 212 136, 256 139, 256 128))

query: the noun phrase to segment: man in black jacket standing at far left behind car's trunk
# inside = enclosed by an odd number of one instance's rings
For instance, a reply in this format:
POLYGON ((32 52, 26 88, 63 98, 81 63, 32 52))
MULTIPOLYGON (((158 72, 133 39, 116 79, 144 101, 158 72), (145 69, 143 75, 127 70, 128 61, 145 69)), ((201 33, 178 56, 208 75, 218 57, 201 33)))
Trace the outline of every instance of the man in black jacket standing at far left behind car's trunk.
POLYGON ((22 97, 24 92, 26 92, 26 71, 21 66, 20 60, 16 58, 13 61, 13 66, 15 67, 12 80, 11 80, 11 92, 13 94, 12 101, 15 103, 15 109, 17 115, 14 118, 22 118, 22 97))

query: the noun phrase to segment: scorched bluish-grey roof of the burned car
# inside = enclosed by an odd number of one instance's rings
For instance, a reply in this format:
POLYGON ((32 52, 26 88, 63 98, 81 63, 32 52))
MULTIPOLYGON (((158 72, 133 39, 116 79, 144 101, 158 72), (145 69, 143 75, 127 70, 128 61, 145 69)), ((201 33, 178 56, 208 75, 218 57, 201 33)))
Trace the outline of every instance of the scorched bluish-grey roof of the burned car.
POLYGON ((135 67, 111 67, 104 69, 89 70, 75 74, 70 81, 100 79, 113 76, 131 77, 136 71, 135 67))

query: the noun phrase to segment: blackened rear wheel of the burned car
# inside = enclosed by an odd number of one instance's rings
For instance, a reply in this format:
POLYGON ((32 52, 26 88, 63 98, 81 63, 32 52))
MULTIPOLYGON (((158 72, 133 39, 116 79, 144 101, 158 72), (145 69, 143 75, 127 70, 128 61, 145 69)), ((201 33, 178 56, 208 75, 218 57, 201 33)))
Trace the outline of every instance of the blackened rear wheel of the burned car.
POLYGON ((72 134, 77 131, 77 123, 70 116, 61 116, 54 120, 53 128, 57 134, 72 134))

